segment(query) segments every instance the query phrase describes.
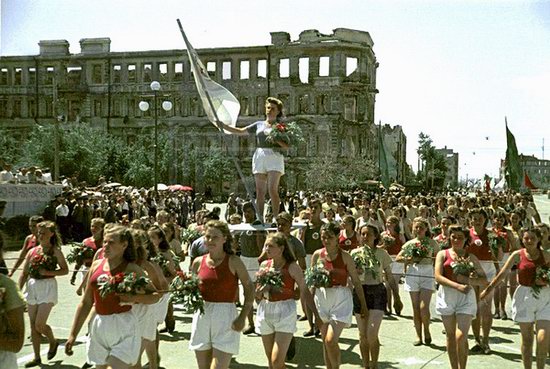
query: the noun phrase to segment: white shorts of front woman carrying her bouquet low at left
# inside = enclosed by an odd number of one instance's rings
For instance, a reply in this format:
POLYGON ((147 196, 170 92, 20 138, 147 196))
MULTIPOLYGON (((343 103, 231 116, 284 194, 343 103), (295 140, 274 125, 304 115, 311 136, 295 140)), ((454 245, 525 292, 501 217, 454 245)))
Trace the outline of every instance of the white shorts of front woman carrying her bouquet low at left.
POLYGON ((189 349, 205 351, 214 348, 228 354, 238 354, 241 333, 231 329, 237 314, 232 302, 205 301, 204 314, 196 311, 193 315, 189 349))

